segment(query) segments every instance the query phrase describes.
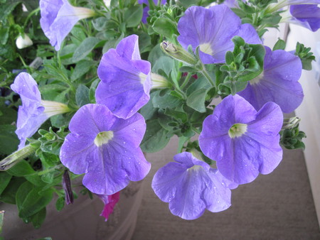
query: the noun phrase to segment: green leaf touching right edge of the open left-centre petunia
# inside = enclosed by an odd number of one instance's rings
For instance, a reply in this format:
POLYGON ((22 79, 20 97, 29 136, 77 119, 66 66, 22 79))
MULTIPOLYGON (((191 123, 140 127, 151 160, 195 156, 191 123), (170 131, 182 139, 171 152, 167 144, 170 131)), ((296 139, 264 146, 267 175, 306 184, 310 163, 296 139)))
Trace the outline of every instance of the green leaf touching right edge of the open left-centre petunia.
POLYGON ((140 147, 144 153, 155 153, 169 143, 169 131, 163 129, 157 119, 146 121, 146 133, 140 147))

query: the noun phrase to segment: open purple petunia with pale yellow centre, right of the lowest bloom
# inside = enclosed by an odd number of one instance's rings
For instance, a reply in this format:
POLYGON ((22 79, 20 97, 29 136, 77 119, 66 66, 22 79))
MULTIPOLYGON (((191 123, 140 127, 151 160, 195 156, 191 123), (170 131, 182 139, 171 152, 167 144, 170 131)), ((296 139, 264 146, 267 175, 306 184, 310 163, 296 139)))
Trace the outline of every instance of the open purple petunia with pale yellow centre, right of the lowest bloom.
POLYGON ((268 102, 260 111, 242 97, 229 95, 203 121, 201 151, 217 161, 217 168, 237 184, 269 174, 282 160, 279 131, 282 111, 268 102))

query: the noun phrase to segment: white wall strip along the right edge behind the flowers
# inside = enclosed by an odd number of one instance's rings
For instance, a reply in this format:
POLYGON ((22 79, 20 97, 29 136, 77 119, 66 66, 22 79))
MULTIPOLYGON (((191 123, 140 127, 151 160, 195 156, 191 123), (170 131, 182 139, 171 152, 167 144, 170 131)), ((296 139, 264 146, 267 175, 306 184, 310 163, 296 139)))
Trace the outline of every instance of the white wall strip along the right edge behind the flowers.
POLYGON ((320 31, 313 33, 306 28, 290 25, 287 50, 294 50, 297 41, 310 47, 316 55, 313 70, 303 70, 299 80, 304 89, 304 101, 295 112, 302 119, 299 129, 306 133, 304 157, 320 226, 320 31))

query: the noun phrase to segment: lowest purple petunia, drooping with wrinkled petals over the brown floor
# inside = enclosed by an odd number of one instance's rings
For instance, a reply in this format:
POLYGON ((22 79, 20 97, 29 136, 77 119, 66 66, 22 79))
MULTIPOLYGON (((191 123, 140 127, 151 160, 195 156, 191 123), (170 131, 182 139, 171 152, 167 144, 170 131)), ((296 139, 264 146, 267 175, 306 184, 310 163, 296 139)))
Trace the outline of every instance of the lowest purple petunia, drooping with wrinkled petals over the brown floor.
MULTIPOLYGON (((168 163, 154 175, 151 187, 164 202, 169 202, 172 214, 191 220, 201 217, 208 209, 220 212, 231 205, 229 183, 208 163, 191 153, 174 156, 176 163, 168 163)), ((233 184, 233 188, 238 185, 233 184)))

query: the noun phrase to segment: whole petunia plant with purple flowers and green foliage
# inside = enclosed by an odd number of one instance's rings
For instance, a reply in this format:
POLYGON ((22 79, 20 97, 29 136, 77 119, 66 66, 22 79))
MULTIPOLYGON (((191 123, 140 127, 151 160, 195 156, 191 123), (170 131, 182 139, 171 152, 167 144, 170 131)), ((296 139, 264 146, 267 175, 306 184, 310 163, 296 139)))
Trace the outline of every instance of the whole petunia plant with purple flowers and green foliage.
POLYGON ((282 22, 316 31, 316 4, 1 5, 0 201, 40 227, 53 196, 64 211, 80 192, 102 200, 107 220, 129 182, 149 174, 148 153, 178 136, 155 194, 183 219, 228 211, 232 190, 272 173, 282 148, 304 148, 299 118, 284 113, 302 103, 314 55, 263 37, 282 22))

